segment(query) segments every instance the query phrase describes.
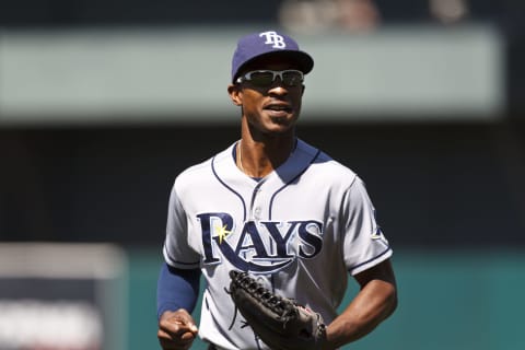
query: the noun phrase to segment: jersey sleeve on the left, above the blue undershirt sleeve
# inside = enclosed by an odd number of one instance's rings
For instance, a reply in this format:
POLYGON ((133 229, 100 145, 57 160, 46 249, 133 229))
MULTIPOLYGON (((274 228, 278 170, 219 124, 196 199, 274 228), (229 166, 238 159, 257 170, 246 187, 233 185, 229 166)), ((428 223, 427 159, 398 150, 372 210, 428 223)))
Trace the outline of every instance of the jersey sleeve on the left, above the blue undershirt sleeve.
POLYGON ((170 195, 163 255, 170 266, 178 269, 195 269, 200 266, 199 255, 189 245, 186 211, 178 197, 176 180, 170 195))

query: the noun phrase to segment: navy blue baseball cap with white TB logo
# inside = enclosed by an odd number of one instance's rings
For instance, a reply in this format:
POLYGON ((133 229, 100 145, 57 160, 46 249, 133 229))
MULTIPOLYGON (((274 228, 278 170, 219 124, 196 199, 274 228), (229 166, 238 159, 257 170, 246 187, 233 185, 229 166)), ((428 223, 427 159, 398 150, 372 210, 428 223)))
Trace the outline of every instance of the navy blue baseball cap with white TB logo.
POLYGON ((232 59, 232 82, 235 82, 241 69, 250 61, 275 55, 296 63, 305 74, 314 68, 314 59, 300 50, 298 43, 290 36, 276 31, 254 33, 237 42, 232 59))

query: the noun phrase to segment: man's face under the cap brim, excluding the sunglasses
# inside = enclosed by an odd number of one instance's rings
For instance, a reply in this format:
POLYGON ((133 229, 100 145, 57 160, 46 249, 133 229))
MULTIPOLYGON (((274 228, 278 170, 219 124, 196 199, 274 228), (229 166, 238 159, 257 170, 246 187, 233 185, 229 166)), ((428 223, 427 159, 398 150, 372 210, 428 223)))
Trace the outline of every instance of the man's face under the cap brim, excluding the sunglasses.
MULTIPOLYGON (((298 67, 282 59, 264 59, 245 67, 241 77, 256 70, 288 69, 298 69, 298 67)), ((229 86, 232 101, 242 106, 243 115, 252 129, 255 128, 262 133, 283 133, 293 130, 301 113, 303 92, 302 82, 290 86, 280 78, 276 78, 268 86, 258 86, 249 80, 229 86)))

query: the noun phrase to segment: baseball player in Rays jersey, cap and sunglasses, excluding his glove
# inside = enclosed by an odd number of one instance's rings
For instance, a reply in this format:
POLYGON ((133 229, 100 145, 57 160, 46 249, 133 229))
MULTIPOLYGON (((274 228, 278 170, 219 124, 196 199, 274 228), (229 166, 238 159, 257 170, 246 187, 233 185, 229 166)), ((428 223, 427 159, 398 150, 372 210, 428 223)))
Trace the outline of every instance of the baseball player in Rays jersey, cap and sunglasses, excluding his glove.
POLYGON ((197 336, 209 349, 269 349, 236 314, 231 270, 319 313, 326 349, 362 338, 396 308, 392 248, 363 182, 295 135, 313 66, 282 33, 238 40, 228 92, 241 139, 179 174, 171 192, 158 285, 163 349, 188 349, 197 336), (349 276, 361 289, 338 315, 349 276))

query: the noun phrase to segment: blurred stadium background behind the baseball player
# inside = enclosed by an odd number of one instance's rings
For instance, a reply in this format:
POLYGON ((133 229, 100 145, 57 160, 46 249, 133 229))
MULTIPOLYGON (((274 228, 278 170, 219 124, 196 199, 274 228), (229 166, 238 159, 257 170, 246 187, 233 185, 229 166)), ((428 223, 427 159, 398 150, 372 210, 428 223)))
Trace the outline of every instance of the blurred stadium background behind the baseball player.
POLYGON ((299 136, 365 179, 395 248, 399 308, 348 348, 524 349, 524 10, 1 1, 0 349, 159 348, 170 188, 238 137, 231 55, 272 27, 316 59, 299 136))

